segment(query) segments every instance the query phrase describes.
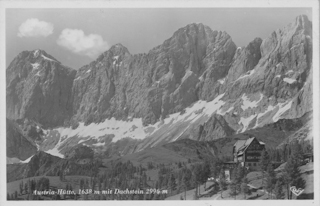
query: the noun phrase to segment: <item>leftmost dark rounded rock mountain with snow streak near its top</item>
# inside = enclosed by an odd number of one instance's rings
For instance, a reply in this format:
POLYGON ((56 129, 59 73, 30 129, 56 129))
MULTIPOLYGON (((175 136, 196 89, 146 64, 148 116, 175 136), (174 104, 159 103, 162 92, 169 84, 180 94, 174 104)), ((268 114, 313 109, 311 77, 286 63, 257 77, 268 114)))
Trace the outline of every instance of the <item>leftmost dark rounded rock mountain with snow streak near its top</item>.
POLYGON ((75 74, 45 51, 21 52, 6 70, 7 118, 63 125, 72 114, 75 74))

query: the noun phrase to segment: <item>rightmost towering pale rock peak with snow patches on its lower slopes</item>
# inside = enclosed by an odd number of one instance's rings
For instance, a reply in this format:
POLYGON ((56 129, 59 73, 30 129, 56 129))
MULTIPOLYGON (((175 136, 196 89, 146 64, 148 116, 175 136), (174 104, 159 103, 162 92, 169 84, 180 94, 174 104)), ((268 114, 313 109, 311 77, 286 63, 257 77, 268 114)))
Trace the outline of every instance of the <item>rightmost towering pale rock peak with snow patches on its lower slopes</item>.
POLYGON ((261 58, 252 70, 235 81, 226 81, 229 84, 221 92, 225 92, 229 101, 243 100, 241 108, 234 104, 233 114, 241 114, 238 119, 250 118, 252 128, 267 123, 266 119, 270 122, 270 117, 273 121, 280 117, 301 117, 312 109, 311 31, 307 17, 297 17, 295 22, 262 41, 260 51, 256 50, 258 54, 261 52, 261 58), (272 114, 276 107, 277 115, 272 114))

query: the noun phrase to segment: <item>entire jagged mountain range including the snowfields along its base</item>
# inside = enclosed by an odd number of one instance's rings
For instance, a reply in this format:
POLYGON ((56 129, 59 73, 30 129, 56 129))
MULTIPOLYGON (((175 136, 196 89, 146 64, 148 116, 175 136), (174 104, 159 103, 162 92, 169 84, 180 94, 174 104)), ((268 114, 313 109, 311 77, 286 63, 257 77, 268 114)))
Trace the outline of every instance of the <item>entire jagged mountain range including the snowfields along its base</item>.
POLYGON ((306 16, 244 48, 226 32, 190 24, 148 54, 117 44, 74 71, 37 50, 7 69, 7 117, 47 127, 41 148, 51 152, 77 144, 107 152, 121 142, 119 154, 133 153, 183 138, 222 138, 310 110, 306 16), (134 140, 119 141, 126 137, 134 140))

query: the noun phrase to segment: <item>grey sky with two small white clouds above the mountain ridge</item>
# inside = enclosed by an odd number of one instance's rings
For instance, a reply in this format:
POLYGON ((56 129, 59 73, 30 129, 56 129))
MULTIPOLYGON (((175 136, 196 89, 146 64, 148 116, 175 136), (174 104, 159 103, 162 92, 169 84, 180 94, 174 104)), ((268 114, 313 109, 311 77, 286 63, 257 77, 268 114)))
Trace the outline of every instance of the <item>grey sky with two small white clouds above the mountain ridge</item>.
POLYGON ((306 8, 7 9, 6 65, 21 51, 42 49, 78 69, 117 43, 131 54, 147 53, 194 22, 226 31, 237 46, 246 46, 301 14, 311 20, 306 8))

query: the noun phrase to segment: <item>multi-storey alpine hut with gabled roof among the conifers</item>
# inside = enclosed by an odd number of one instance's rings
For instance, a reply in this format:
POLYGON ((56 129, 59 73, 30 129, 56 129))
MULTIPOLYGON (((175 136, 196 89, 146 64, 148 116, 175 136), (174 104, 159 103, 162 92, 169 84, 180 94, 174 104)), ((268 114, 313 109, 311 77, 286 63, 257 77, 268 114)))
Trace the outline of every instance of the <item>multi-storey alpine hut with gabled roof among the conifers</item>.
POLYGON ((258 169, 262 151, 265 149, 265 143, 255 137, 247 140, 238 140, 233 145, 234 162, 240 163, 250 169, 258 169))

